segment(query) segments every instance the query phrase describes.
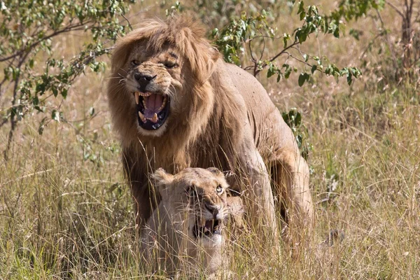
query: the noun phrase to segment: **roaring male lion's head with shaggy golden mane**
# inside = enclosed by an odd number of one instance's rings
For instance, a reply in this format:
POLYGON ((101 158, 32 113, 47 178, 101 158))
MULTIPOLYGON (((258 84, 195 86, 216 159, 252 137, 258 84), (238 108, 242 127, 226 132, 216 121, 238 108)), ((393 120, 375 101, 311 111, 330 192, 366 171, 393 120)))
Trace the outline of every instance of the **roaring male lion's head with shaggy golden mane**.
POLYGON ((160 137, 168 127, 193 123, 190 111, 209 106, 195 90, 211 76, 218 56, 204 29, 181 17, 146 20, 121 38, 109 83, 117 130, 135 125, 141 136, 160 137))

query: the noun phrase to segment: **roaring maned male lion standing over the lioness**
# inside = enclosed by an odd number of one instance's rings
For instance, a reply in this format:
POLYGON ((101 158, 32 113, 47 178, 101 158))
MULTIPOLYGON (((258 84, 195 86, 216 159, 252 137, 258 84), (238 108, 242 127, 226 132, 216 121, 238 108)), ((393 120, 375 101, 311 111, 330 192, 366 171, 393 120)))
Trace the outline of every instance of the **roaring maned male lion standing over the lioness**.
POLYGON ((232 171, 230 186, 246 197, 253 225, 274 235, 273 193, 288 221, 311 222, 309 169, 293 133, 258 80, 225 63, 204 34, 186 16, 145 20, 113 50, 109 106, 137 224, 160 200, 148 185, 158 167, 232 171))

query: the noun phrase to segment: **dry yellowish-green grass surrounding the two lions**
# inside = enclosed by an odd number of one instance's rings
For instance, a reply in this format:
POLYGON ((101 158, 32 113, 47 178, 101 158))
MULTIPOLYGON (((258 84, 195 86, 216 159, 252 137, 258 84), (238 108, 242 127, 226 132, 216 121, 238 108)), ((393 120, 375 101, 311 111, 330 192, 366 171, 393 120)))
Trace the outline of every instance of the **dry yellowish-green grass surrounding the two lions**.
MULTIPOLYGON (((137 13, 133 24, 165 13, 144 6, 148 12, 137 13)), ((393 22, 393 15, 384 12, 384 20, 393 22)), ((290 23, 286 15, 278 21, 279 29, 290 23)), ((370 19, 357 25, 374 28, 370 19)), ((366 31, 359 42, 312 38, 306 48, 341 66, 358 66, 371 37, 366 31)), ((80 36, 66 38, 66 48, 62 42, 57 51, 76 52, 76 40, 80 36)), ((309 164, 316 230, 295 259, 288 248, 274 254, 252 236, 241 237, 230 245, 235 252, 230 269, 239 279, 419 278, 419 93, 412 85, 378 89, 372 76, 352 87, 317 76, 302 88, 294 78, 279 84, 259 78, 281 111, 295 106, 303 112, 314 145, 309 164), (322 245, 332 229, 343 230, 344 241, 322 245)), ((13 156, 0 160, 0 279, 147 276, 139 270, 143 260, 105 81, 106 73, 80 78, 63 105, 69 123, 50 123, 43 136, 37 132, 39 116, 25 118, 13 156), (94 118, 88 112, 92 106, 94 118)), ((3 127, 1 151, 6 132, 3 127)))

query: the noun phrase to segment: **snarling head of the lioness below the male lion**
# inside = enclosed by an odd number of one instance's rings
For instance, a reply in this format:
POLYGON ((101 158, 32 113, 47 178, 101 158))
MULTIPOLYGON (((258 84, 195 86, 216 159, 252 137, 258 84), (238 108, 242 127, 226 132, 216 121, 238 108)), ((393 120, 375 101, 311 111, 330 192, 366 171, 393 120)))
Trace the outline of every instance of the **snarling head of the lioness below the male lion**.
POLYGON ((222 172, 187 168, 172 175, 158 169, 153 178, 162 196, 160 203, 172 218, 186 221, 183 227, 189 239, 204 245, 222 242, 223 221, 228 216, 228 183, 222 172))

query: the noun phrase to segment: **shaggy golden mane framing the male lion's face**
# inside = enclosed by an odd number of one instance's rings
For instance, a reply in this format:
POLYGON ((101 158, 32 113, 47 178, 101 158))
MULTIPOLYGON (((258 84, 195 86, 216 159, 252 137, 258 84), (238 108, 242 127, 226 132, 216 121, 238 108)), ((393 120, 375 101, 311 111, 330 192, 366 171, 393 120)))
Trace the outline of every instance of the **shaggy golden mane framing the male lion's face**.
MULTIPOLYGON (((222 109, 218 108, 220 107, 218 104, 224 104, 224 114, 234 114, 237 111, 236 102, 230 100, 225 94, 218 94, 219 91, 228 92, 229 89, 223 85, 220 78, 221 73, 216 71, 217 64, 221 63, 221 59, 219 59, 221 55, 207 41, 204 34, 205 29, 202 25, 188 17, 174 17, 167 21, 150 19, 142 22, 138 29, 120 38, 113 50, 112 74, 108 90, 109 104, 113 114, 113 124, 120 133, 123 147, 139 150, 146 146, 160 146, 160 151, 149 150, 148 158, 160 158, 159 161, 164 161, 165 164, 158 167, 165 167, 170 172, 188 167, 191 160, 196 160, 191 159, 192 154, 187 153, 186 149, 189 148, 190 143, 197 142, 195 140, 200 137, 203 130, 206 130, 206 134, 212 134, 211 131, 219 130, 222 109), (123 99, 123 96, 128 92, 118 77, 125 76, 124 66, 127 64, 127 59, 134 50, 134 46, 139 42, 144 42, 146 50, 152 52, 158 52, 166 44, 172 45, 188 61, 189 67, 186 72, 188 83, 184 84, 181 90, 186 93, 188 102, 184 104, 182 118, 172 120, 171 127, 165 132, 166 137, 141 137, 136 133, 135 122, 127 122, 127 112, 130 111, 131 104, 123 99), (189 73, 191 76, 188 76, 189 73), (216 97, 218 102, 215 102, 216 97), (185 118, 188 116, 193 118, 186 122, 185 118), (139 141, 141 145, 139 145, 139 141)), ((232 119, 235 120, 235 118, 232 119)), ((238 123, 231 122, 226 126, 238 127, 238 123)), ((209 145, 208 137, 204 138, 203 146, 209 145)), ((212 144, 212 148, 216 148, 216 146, 216 143, 212 144)), ((130 152, 130 154, 138 153, 139 151, 130 152)))

